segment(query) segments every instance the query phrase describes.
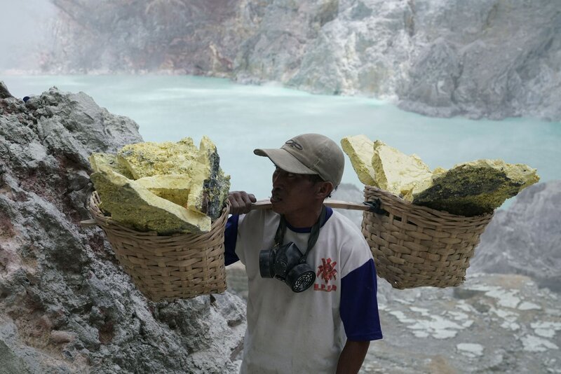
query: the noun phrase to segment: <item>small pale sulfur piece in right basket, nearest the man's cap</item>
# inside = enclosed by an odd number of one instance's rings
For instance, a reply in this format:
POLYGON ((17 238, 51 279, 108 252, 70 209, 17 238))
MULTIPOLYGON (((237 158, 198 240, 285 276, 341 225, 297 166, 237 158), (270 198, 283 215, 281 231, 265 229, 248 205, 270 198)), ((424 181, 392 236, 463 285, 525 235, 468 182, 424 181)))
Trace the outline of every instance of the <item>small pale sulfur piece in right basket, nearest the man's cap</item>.
POLYGON ((356 135, 341 139, 341 146, 344 153, 349 156, 351 165, 358 175, 358 180, 367 186, 379 187, 374 178, 374 168, 372 167, 374 142, 368 139, 366 135, 356 135))

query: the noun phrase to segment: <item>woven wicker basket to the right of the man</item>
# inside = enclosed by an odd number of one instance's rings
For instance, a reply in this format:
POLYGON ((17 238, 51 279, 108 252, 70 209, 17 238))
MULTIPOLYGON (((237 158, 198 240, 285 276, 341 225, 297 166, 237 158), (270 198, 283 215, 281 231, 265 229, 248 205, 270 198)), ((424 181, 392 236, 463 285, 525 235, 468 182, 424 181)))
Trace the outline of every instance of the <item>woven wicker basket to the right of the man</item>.
POLYGON ((458 286, 479 237, 493 214, 464 217, 419 207, 365 186, 365 201, 379 200, 384 214, 364 212, 363 234, 378 275, 396 289, 458 286))

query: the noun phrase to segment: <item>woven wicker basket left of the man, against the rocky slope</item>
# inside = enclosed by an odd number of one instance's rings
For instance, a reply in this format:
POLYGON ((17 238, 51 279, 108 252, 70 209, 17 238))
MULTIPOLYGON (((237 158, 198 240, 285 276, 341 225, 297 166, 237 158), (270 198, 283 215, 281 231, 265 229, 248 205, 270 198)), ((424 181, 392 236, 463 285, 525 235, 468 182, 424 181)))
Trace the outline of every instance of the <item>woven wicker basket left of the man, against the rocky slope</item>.
POLYGON ((208 233, 156 235, 119 225, 104 216, 100 197, 90 198, 90 213, 107 235, 119 263, 152 301, 192 298, 226 290, 224 227, 229 207, 208 233))

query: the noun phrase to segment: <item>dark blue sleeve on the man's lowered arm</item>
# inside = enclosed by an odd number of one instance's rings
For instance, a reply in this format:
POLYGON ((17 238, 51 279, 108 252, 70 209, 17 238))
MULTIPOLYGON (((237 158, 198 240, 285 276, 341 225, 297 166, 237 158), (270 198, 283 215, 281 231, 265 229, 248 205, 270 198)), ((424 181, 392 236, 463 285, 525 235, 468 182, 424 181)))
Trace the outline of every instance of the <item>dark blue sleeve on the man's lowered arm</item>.
POLYGON ((341 279, 339 312, 349 340, 381 339, 376 268, 370 259, 341 279))

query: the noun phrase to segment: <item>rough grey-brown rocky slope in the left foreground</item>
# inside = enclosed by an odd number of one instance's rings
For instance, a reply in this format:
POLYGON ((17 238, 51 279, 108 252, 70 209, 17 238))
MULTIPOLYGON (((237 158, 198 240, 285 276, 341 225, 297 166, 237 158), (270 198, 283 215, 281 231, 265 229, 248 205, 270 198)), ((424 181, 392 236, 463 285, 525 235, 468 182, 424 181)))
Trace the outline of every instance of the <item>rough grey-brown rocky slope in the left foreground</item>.
POLYGON ((230 293, 149 303, 99 228, 81 228, 88 155, 142 141, 83 93, 23 103, 0 84, 0 371, 227 373, 245 331, 230 293))

